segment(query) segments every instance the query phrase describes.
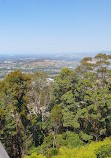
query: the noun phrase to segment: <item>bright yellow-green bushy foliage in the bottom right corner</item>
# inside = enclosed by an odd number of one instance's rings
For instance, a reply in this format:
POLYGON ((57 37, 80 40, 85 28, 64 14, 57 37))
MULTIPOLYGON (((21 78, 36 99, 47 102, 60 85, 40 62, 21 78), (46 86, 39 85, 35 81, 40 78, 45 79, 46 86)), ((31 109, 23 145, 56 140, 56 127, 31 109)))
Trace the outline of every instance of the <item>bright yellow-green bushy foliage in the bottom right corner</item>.
MULTIPOLYGON (((105 151, 107 151, 107 153, 110 153, 111 148, 108 148, 110 146, 111 138, 106 138, 104 141, 91 142, 90 144, 87 144, 85 146, 76 147, 73 149, 61 147, 59 149, 59 154, 57 156, 53 156, 53 158, 97 158, 96 153, 98 151, 101 151, 100 154, 104 154, 105 151), (106 147, 106 149, 104 147, 106 147)), ((108 155, 106 154, 106 156, 108 155)))

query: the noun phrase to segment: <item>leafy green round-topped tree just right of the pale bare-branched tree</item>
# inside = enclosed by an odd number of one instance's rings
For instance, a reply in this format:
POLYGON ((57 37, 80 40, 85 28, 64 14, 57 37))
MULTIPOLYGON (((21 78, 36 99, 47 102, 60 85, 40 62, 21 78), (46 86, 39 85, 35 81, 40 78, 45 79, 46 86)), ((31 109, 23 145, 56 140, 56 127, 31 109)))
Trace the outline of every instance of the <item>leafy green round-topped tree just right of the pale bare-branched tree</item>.
POLYGON ((79 127, 78 122, 74 119, 78 108, 76 102, 79 95, 76 91, 77 84, 77 75, 68 68, 61 70, 61 73, 55 77, 53 84, 55 104, 58 103, 62 108, 63 127, 66 129, 79 127))

